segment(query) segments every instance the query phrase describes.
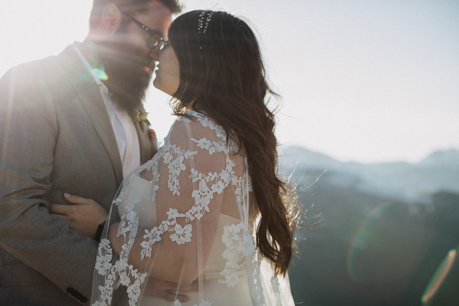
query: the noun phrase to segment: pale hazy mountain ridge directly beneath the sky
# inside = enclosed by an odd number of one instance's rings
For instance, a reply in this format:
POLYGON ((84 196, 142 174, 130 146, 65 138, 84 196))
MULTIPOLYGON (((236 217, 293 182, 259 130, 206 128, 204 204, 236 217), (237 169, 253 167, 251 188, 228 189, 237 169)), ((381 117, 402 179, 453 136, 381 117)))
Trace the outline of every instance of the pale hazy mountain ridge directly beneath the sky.
MULTIPOLYGON (((328 184, 352 186, 367 194, 427 202, 438 191, 459 192, 458 150, 433 152, 418 164, 341 162, 298 146, 286 147, 281 155, 281 169, 287 175, 293 172, 297 182, 304 174, 319 175, 328 169, 328 184)), ((310 181, 303 178, 300 185, 310 181)))

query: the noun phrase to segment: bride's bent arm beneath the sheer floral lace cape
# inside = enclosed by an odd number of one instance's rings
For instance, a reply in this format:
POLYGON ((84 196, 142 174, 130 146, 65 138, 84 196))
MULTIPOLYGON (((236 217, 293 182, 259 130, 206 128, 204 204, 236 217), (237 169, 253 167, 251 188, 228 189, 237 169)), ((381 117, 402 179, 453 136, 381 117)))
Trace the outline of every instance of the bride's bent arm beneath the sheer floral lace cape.
MULTIPOLYGON (((177 122, 170 135, 171 147, 165 145, 158 162, 154 198, 157 228, 145 229, 140 224, 135 241, 129 244, 128 233, 118 235, 123 232, 119 223, 110 226, 107 238, 112 248, 119 255, 123 248, 127 252, 130 247, 128 264, 139 272, 191 284, 199 275, 199 263, 201 268, 206 266, 217 232, 224 188, 230 184, 226 176, 224 180, 220 175, 228 160, 222 150, 212 149, 216 147, 214 141, 221 139, 210 128, 203 129, 200 122, 177 122)), ((137 213, 140 216, 145 211, 137 213)), ((127 223, 125 220, 124 224, 127 223)))

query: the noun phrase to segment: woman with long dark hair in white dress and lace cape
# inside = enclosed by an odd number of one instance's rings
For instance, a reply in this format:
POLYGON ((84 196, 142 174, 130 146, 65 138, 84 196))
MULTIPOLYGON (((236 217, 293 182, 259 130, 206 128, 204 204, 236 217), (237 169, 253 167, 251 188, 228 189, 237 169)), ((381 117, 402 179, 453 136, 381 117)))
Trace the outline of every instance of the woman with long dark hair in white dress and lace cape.
POLYGON ((177 120, 113 201, 91 305, 293 306, 294 217, 257 39, 223 11, 185 13, 168 38, 154 85, 177 120), (143 295, 151 277, 199 290, 174 292, 186 302, 143 295))

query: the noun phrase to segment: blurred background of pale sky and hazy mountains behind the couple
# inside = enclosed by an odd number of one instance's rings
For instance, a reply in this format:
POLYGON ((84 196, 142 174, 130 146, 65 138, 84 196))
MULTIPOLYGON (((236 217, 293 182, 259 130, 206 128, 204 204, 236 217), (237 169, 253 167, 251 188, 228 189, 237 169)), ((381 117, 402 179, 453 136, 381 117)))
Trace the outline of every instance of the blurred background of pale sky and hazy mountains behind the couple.
MULTIPOLYGON (((0 75, 82 41, 91 5, 4 4, 0 75)), ((208 8, 257 30, 283 97, 280 170, 320 221, 297 232, 295 302, 421 305, 459 244, 459 2, 185 0, 208 8)), ((151 86, 145 106, 162 139, 168 96, 151 86)))

